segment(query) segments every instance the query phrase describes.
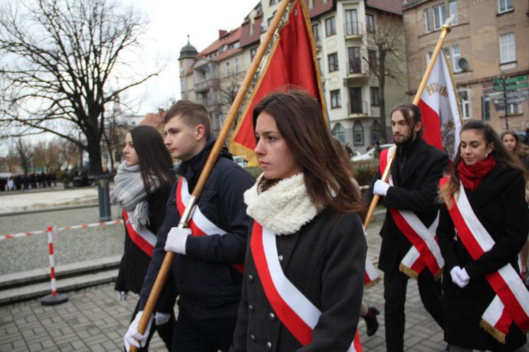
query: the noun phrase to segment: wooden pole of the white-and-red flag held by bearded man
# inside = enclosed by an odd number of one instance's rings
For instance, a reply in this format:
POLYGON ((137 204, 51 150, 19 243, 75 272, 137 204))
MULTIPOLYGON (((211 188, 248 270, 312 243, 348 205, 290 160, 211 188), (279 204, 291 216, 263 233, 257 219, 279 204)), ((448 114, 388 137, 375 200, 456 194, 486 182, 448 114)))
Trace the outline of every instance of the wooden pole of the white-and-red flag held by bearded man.
MULTIPOLYGON (((425 90, 426 83, 428 81, 428 78, 430 78, 430 73, 432 73, 432 69, 434 68, 434 63, 437 60, 437 55, 439 55, 439 51, 442 49, 442 45, 444 42, 444 37, 446 37, 446 34, 451 31, 450 26, 450 20, 446 20, 446 23, 441 28, 441 35, 439 35, 439 40, 437 40, 437 45, 435 46, 434 52, 432 54, 432 59, 430 60, 430 63, 428 63, 428 66, 426 68, 425 74, 422 76, 422 80, 420 81, 420 85, 417 89, 417 92, 415 93, 415 97, 413 98, 413 104, 417 105, 419 104, 420 97, 422 96, 422 91, 425 90)), ((382 174, 381 180, 386 182, 389 178, 389 174, 391 173, 391 164, 393 164, 393 161, 395 159, 397 148, 394 147, 391 151, 391 154, 389 155, 389 160, 387 162, 386 169, 384 169, 384 174, 382 174)), ((371 218, 373 217, 373 214, 375 213, 375 209, 377 208, 377 204, 380 200, 380 195, 373 195, 373 198, 371 200, 371 204, 369 206, 369 209, 367 210, 367 214, 365 215, 364 220, 364 228, 367 230, 367 227, 369 227, 369 224, 371 222, 371 218)))

